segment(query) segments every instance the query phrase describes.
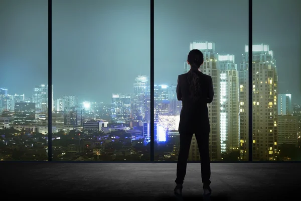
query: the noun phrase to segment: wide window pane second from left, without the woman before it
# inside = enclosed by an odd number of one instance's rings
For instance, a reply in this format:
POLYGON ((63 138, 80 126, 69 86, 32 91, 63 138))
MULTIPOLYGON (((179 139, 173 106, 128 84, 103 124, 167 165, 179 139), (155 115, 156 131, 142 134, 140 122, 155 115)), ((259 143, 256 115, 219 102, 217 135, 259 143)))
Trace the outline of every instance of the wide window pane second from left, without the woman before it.
POLYGON ((53 160, 148 161, 148 0, 52 1, 53 160))

